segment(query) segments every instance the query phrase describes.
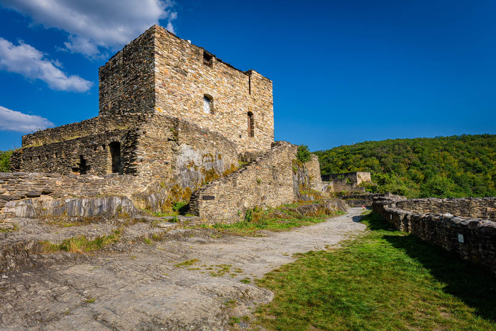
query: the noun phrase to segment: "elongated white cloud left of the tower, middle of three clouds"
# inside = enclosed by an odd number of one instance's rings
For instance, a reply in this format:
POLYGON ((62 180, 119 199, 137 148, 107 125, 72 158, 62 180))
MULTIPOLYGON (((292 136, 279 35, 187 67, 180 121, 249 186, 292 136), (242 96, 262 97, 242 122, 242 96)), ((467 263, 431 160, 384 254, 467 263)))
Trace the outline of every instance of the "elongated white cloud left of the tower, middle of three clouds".
POLYGON ((20 73, 27 79, 41 79, 56 91, 85 92, 93 83, 76 75, 67 76, 58 67, 59 61, 50 61, 45 54, 33 46, 19 41, 14 46, 8 40, 0 38, 0 69, 20 73))

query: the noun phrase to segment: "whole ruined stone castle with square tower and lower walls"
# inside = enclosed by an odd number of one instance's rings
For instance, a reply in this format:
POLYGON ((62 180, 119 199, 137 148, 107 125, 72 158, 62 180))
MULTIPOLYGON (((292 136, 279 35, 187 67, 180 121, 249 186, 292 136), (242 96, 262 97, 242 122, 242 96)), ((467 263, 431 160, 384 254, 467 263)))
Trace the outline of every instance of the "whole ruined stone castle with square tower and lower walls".
POLYGON ((100 67, 98 117, 22 137, 0 218, 22 199, 121 195, 151 211, 191 199, 191 213, 235 221, 322 191, 317 157, 295 163, 296 149, 274 142, 271 80, 154 25, 100 67))

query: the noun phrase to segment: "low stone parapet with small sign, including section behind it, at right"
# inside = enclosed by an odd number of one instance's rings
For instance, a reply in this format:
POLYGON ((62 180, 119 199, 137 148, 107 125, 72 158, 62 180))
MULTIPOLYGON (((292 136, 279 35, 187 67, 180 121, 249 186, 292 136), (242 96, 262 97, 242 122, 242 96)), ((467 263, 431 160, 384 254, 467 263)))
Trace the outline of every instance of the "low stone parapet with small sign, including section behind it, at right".
POLYGON ((494 211, 487 209, 494 208, 492 206, 495 201, 496 198, 376 198, 372 209, 397 229, 411 232, 422 240, 440 245, 461 258, 496 273, 496 223, 475 216, 494 217, 494 211), (446 210, 448 206, 456 208, 446 210), (416 211, 420 208, 429 214, 416 211), (443 211, 439 212, 440 209, 443 211), (490 212, 493 214, 489 215, 490 212))

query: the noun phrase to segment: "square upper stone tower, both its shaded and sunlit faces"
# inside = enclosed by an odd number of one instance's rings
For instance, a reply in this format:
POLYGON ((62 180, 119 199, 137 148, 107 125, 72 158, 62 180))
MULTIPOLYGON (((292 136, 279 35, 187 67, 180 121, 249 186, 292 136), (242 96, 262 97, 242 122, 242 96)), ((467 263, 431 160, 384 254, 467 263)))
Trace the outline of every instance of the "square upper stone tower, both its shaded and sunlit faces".
POLYGON ((254 70, 244 72, 215 57, 209 66, 204 65, 201 47, 156 25, 115 57, 119 58, 127 49, 136 50, 128 62, 117 65, 113 58, 100 68, 101 115, 132 112, 137 107, 133 98, 137 98, 140 103, 146 102, 146 106, 138 107, 140 111, 164 112, 198 124, 200 129, 220 132, 238 145, 239 152, 270 148, 274 140, 272 81, 254 70), (148 46, 142 46, 148 43, 153 45, 153 52, 148 46), (138 49, 142 49, 142 53, 138 49), (152 62, 150 54, 153 54, 152 62), (139 90, 141 85, 124 79, 126 75, 141 77, 140 83, 152 84, 153 97, 150 99, 148 92, 146 96, 129 92, 139 90), (111 90, 109 86, 116 87, 111 90), (121 98, 122 95, 125 98, 121 98), (205 95, 212 100, 210 114, 203 112, 205 95), (253 114, 253 136, 249 136, 247 130, 248 112, 253 114))

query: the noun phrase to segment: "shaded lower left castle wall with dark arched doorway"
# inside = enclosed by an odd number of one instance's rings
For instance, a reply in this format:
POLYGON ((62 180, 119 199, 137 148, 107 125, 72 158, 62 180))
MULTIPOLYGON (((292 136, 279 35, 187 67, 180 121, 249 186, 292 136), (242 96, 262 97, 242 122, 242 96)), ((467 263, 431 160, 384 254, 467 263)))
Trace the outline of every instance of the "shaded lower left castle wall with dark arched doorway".
POLYGON ((147 120, 143 114, 102 116, 24 135, 22 148, 12 153, 10 168, 17 172, 106 175, 113 173, 109 144, 118 141, 121 173, 132 174, 131 150, 138 139, 135 128, 147 120), (81 158, 85 169, 81 169, 81 158))

